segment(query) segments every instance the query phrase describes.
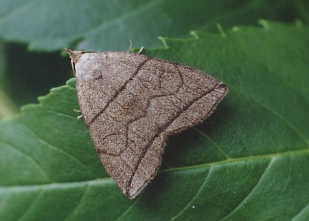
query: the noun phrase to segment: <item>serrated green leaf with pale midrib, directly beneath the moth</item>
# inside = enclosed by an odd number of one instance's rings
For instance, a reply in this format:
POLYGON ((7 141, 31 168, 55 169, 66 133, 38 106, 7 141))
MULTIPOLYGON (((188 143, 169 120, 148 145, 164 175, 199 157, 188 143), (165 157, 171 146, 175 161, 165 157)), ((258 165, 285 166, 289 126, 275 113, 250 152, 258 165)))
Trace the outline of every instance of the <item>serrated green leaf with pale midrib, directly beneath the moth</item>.
POLYGON ((309 28, 260 23, 143 51, 197 67, 230 92, 205 123, 170 138, 135 200, 76 118, 74 79, 2 120, 0 220, 308 220, 309 28))

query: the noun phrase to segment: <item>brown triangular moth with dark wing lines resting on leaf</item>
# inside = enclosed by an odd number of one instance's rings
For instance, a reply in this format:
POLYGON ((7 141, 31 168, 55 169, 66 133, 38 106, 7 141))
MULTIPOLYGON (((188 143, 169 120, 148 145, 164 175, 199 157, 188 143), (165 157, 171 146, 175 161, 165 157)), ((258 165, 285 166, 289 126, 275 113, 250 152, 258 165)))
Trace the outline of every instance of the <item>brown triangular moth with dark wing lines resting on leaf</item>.
POLYGON ((168 136, 205 120, 228 91, 178 63, 128 52, 65 50, 95 148, 130 199, 155 177, 168 136))

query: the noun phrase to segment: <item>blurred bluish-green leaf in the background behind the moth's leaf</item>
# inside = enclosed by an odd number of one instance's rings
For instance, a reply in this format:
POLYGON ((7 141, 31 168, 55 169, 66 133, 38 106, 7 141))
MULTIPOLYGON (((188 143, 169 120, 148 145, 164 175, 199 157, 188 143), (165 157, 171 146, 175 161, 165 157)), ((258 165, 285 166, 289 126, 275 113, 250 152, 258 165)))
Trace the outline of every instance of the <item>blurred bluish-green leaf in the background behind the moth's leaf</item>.
POLYGON ((289 0, 0 0, 0 38, 27 43, 32 50, 76 44, 74 48, 87 50, 126 50, 129 39, 135 47, 153 47, 159 45, 157 36, 214 30, 216 23, 306 21, 308 10, 302 5, 289 0))

